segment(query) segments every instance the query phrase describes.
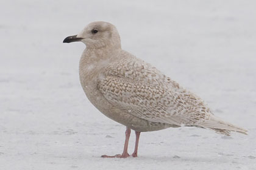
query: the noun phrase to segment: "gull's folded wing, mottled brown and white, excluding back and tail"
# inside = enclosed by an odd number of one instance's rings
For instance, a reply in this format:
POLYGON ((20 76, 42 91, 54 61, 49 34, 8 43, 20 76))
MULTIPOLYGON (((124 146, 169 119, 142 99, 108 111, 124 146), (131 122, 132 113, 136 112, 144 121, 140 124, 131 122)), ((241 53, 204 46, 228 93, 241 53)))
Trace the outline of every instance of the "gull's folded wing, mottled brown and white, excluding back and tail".
POLYGON ((193 104, 194 98, 186 96, 185 90, 176 92, 115 76, 99 80, 98 88, 113 106, 152 122, 192 126, 207 115, 199 111, 200 105, 193 104))

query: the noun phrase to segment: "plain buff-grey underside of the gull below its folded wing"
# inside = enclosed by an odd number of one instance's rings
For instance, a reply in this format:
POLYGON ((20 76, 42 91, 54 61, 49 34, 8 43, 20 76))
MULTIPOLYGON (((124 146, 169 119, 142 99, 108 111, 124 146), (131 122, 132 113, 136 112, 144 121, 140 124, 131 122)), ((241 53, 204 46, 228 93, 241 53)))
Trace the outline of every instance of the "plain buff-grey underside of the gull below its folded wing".
POLYGON ((85 84, 82 87, 87 95, 88 100, 108 118, 123 124, 124 126, 139 132, 158 131, 168 127, 174 127, 171 124, 155 123, 142 118, 135 117, 134 115, 119 109, 112 103, 109 103, 95 84, 85 84))

